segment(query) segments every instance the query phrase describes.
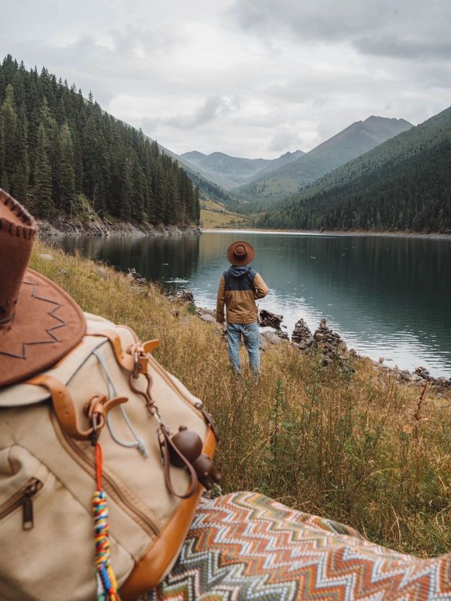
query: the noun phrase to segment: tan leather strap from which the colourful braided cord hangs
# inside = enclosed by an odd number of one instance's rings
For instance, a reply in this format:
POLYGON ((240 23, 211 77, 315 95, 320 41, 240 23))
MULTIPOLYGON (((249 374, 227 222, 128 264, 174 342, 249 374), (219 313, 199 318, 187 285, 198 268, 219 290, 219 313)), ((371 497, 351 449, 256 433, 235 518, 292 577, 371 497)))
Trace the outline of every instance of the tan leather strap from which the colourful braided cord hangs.
POLYGON ((90 419, 95 419, 96 428, 91 427, 87 430, 80 430, 75 404, 68 388, 60 380, 52 376, 47 376, 47 374, 41 374, 27 380, 27 384, 44 386, 44 388, 49 390, 51 402, 53 403, 54 411, 61 428, 63 428, 66 434, 76 440, 90 440, 95 430, 98 431, 104 427, 108 411, 116 407, 116 405, 128 401, 126 397, 116 397, 110 400, 106 400, 106 397, 92 397, 87 403, 86 409, 87 416, 90 419))

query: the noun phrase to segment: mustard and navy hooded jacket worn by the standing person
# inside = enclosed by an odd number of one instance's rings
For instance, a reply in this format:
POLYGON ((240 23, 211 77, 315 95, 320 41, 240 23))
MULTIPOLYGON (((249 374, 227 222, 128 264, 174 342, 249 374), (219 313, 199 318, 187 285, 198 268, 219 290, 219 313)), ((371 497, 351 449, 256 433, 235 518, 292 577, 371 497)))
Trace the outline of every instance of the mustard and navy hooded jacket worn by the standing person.
POLYGON ((268 294, 268 286, 257 271, 249 265, 231 266, 219 281, 216 298, 216 321, 224 321, 224 305, 228 323, 254 323, 257 321, 255 299, 268 294))

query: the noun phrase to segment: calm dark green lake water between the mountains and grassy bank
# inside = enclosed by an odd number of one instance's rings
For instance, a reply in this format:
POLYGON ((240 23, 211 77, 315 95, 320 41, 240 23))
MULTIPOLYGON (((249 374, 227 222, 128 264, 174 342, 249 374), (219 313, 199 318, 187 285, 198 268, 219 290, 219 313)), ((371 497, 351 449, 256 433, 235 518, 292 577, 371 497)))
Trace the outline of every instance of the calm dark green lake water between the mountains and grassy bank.
POLYGON ((254 247, 252 266, 270 288, 259 304, 283 314, 290 335, 299 318, 314 331, 324 316, 360 354, 451 377, 450 240, 228 231, 58 243, 123 271, 135 267, 166 290, 190 290, 198 306, 213 308, 226 249, 242 238, 254 247))

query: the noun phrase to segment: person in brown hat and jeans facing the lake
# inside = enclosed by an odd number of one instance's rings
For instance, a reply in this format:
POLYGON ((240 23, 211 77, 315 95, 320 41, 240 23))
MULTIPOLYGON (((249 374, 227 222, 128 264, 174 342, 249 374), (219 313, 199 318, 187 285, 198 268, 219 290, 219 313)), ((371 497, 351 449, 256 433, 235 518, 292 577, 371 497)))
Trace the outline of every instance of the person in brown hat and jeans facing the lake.
POLYGON ((241 337, 249 354, 249 367, 256 374, 260 371, 260 335, 257 323, 255 299, 268 294, 268 287, 249 263, 254 259, 254 249, 248 242, 237 240, 230 244, 227 259, 231 266, 219 281, 216 297, 216 321, 224 323, 226 306, 228 357, 237 374, 241 373, 241 337))

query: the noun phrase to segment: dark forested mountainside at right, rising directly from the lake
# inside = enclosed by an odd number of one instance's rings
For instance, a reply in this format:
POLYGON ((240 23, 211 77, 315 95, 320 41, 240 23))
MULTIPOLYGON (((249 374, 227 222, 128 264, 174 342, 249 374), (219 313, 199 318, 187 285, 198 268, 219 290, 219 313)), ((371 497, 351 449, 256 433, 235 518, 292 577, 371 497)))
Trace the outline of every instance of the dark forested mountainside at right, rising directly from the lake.
POLYGON ((451 107, 328 173, 256 225, 451 233, 451 107))

